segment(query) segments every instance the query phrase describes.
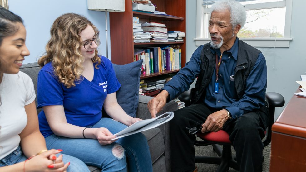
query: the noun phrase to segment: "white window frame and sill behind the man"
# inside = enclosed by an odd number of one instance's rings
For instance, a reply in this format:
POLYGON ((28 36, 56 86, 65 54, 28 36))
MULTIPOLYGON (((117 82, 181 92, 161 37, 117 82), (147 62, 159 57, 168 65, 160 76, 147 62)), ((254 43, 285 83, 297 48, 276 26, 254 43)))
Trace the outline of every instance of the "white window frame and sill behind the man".
MULTIPOLYGON (((239 39, 243 40, 247 44, 254 47, 289 47, 290 41, 292 40, 292 38, 290 38, 292 1, 293 0, 285 0, 281 2, 264 2, 264 3, 244 5, 246 10, 286 7, 284 38, 239 38, 239 39)), ((207 22, 203 23, 205 22, 204 14, 207 12, 210 13, 210 8, 204 8, 202 6, 202 0, 197 0, 196 3, 197 3, 196 38, 194 38, 194 40, 195 40, 195 45, 200 46, 210 42, 210 37, 208 35, 208 20, 210 18, 210 14, 206 18, 207 22), (206 27, 207 29, 204 30, 204 27, 206 27)))

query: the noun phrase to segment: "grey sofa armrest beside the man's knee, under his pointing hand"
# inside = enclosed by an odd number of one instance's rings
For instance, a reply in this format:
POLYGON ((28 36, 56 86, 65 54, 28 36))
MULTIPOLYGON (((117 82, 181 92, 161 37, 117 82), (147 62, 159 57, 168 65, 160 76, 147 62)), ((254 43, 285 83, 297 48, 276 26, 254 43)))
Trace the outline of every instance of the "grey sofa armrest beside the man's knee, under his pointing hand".
MULTIPOLYGON (((151 100, 153 97, 150 96, 144 96, 144 95, 139 95, 139 104, 136 112, 136 117, 140 119, 150 119, 151 118, 151 113, 149 112, 148 109, 148 103, 149 100, 151 100)), ((156 116, 159 116, 165 112, 169 111, 175 111, 178 109, 178 104, 175 101, 170 101, 165 105, 162 111, 158 112, 156 116)), ((165 159, 166 159, 166 171, 171 171, 170 167, 170 127, 169 127, 169 122, 166 122, 165 124, 162 124, 158 126, 163 134, 164 137, 164 143, 165 143, 165 159)))

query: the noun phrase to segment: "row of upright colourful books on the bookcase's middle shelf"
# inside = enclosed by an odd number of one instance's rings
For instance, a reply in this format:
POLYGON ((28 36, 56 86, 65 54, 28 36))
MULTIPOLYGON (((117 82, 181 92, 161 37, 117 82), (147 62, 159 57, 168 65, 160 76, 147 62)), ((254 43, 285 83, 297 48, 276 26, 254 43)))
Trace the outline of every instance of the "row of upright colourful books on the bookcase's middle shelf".
POLYGON ((134 49, 133 61, 143 59, 142 74, 181 69, 181 49, 179 45, 134 49))

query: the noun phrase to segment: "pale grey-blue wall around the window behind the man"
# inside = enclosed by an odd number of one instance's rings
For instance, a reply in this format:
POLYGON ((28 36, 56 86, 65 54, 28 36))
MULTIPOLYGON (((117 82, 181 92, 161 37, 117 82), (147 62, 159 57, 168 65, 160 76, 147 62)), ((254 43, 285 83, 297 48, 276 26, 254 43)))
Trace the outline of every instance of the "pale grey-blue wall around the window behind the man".
MULTIPOLYGON (((186 41, 187 54, 186 61, 190 60, 193 51, 196 49, 195 26, 196 26, 196 0, 188 0, 186 3, 186 41)), ((300 75, 306 72, 305 55, 305 28, 304 17, 306 1, 293 1, 291 34, 293 40, 289 48, 263 48, 258 47, 264 54, 268 68, 267 92, 278 92, 285 98, 285 105, 299 87, 295 81, 300 80, 300 75)), ((282 112, 282 108, 276 108, 275 119, 282 112)))

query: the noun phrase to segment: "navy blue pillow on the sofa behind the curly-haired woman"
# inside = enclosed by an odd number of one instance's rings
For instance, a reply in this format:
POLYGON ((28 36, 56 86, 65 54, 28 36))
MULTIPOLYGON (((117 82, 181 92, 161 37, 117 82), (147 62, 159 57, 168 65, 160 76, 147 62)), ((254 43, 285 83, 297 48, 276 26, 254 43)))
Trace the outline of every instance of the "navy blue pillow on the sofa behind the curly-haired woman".
POLYGON ((117 91, 118 104, 131 117, 136 117, 138 107, 142 61, 138 60, 125 65, 113 64, 116 77, 121 84, 117 91))

